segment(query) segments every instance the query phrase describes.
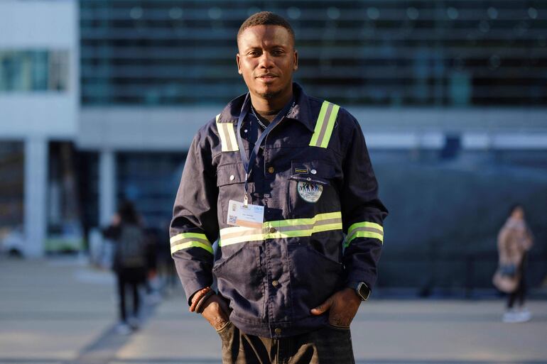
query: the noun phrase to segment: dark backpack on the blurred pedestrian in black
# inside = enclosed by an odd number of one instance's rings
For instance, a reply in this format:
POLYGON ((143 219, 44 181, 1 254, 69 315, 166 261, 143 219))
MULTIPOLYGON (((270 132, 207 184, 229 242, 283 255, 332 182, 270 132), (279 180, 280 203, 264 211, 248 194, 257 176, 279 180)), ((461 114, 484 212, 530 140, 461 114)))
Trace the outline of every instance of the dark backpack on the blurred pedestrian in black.
POLYGON ((146 238, 142 229, 124 225, 117 242, 119 268, 143 268, 146 266, 146 238))

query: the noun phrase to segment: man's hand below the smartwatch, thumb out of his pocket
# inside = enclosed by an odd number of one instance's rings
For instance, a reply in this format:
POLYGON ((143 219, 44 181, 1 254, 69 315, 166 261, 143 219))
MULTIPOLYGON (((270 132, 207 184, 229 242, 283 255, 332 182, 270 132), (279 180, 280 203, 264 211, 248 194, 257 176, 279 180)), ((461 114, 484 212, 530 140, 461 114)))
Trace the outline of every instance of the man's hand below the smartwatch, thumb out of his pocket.
POLYGON ((361 302, 354 289, 345 288, 332 294, 325 302, 312 309, 311 313, 320 315, 329 311, 329 324, 350 327, 361 302))

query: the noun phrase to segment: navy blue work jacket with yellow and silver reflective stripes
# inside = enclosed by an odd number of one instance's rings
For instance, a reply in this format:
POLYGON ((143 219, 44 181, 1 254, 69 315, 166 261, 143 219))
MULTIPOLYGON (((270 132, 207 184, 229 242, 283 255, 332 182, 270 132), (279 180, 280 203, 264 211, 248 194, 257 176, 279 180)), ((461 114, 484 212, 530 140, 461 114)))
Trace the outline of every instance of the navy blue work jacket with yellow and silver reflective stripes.
MULTIPOLYGON (((215 276, 230 321, 271 338, 327 325, 327 314, 313 316, 310 309, 344 287, 374 287, 387 215, 357 120, 306 96, 298 84, 293 94, 293 109, 251 161, 249 204, 264 206, 264 224, 227 224, 229 200, 244 196, 236 137, 242 95, 193 139, 170 225, 186 297, 215 276)), ((247 156, 256 140, 250 115, 241 128, 247 156)))

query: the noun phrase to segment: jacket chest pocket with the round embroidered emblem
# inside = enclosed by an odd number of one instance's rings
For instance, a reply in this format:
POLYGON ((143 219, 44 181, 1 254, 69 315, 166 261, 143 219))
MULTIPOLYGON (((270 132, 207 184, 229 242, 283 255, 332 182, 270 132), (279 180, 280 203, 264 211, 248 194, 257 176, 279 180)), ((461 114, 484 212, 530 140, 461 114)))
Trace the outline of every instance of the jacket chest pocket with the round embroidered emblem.
POLYGON ((323 161, 291 161, 288 182, 291 214, 312 217, 324 212, 340 211, 334 178, 335 168, 323 161))

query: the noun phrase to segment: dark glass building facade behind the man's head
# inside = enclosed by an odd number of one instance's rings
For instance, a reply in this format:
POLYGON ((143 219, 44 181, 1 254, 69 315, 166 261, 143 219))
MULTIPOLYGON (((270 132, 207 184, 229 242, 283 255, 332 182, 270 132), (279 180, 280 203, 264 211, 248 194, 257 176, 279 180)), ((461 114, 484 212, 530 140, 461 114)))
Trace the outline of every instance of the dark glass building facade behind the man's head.
POLYGON ((225 104, 252 13, 296 32, 296 79, 345 105, 545 106, 546 1, 80 0, 82 104, 225 104))

